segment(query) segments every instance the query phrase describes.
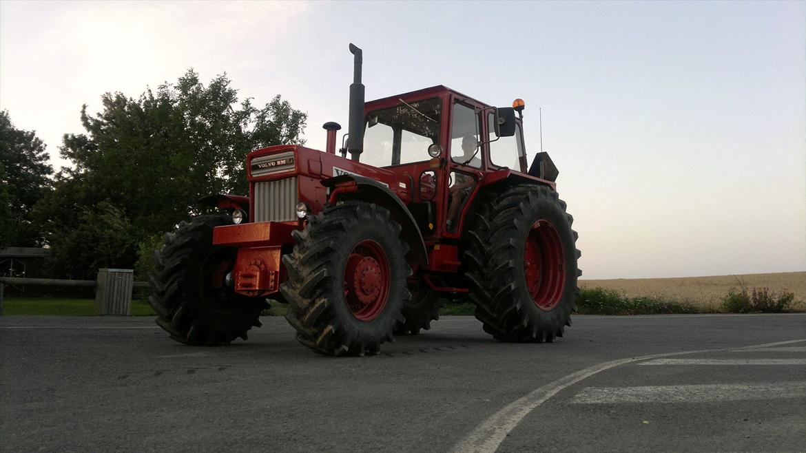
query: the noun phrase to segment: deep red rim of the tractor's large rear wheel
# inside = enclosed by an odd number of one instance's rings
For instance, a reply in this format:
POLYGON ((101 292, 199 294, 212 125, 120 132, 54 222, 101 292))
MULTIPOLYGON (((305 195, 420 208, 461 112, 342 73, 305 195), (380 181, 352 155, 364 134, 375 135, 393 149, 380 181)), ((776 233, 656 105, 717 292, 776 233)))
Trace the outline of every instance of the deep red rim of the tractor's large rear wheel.
POLYGON ((538 220, 526 237, 523 270, 529 295, 542 310, 552 310, 563 297, 565 254, 554 223, 538 220))

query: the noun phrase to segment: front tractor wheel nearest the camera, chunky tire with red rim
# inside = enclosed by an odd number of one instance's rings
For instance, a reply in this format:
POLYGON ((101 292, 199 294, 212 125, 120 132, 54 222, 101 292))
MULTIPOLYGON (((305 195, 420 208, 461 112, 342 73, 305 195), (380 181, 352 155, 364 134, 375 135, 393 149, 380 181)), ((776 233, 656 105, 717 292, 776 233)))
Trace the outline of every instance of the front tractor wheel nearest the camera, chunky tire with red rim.
POLYGON ((285 318, 297 340, 325 355, 377 354, 393 341, 411 295, 401 226, 383 207, 344 202, 310 215, 283 256, 285 318))

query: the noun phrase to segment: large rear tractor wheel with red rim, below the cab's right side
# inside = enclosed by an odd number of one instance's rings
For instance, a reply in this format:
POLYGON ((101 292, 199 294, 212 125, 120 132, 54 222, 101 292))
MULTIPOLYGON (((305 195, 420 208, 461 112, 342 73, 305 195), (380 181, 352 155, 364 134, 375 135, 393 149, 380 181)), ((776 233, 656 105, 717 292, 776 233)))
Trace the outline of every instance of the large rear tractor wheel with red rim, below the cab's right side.
POLYGON ((476 318, 496 339, 553 342, 579 293, 574 219, 546 186, 515 185, 482 202, 466 235, 476 318))

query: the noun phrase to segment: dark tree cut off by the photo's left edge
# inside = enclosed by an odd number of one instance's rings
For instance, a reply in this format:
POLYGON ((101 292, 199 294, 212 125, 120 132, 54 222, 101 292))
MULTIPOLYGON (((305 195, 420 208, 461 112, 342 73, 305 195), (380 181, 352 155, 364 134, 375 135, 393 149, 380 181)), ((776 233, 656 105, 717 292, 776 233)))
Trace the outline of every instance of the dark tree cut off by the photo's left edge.
POLYGON ((8 111, 0 111, 0 248, 42 243, 28 214, 50 189, 52 172, 35 131, 17 129, 8 111))

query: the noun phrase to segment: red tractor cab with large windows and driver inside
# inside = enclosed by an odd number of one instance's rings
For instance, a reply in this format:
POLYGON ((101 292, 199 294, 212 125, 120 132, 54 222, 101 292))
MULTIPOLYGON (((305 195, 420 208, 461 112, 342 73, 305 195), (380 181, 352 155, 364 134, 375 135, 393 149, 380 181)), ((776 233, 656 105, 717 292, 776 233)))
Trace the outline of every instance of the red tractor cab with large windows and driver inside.
POLYGON ((364 118, 361 162, 413 181, 409 210, 425 236, 459 238, 486 174, 526 173, 521 118, 511 107, 437 85, 367 102, 364 118))

